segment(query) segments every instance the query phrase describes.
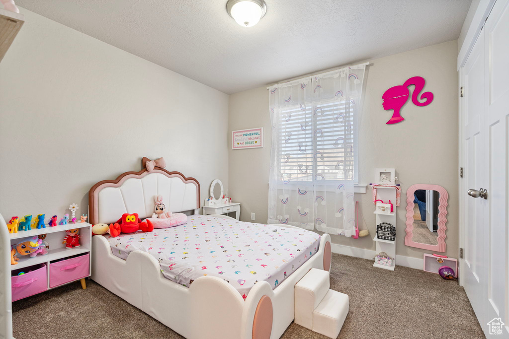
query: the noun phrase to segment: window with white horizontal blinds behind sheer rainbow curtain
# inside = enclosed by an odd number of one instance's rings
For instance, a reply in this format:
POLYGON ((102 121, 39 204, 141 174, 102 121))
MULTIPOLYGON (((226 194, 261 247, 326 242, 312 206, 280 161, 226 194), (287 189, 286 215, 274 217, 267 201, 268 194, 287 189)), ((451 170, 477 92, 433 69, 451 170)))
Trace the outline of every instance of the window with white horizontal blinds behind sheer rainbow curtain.
POLYGON ((280 173, 293 182, 334 184, 357 182, 357 150, 353 110, 345 101, 321 101, 281 109, 280 173), (353 160, 353 169, 345 163, 353 160))

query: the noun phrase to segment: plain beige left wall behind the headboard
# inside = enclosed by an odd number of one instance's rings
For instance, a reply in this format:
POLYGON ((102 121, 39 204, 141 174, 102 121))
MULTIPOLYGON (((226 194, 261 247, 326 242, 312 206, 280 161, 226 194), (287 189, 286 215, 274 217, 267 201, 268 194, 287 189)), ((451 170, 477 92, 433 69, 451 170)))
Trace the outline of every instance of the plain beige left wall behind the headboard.
MULTIPOLYGON (((4 218, 87 212, 99 180, 164 157, 168 170, 228 188, 228 96, 21 9, 0 63, 4 218)), ((202 199, 203 203, 203 199, 202 199)))

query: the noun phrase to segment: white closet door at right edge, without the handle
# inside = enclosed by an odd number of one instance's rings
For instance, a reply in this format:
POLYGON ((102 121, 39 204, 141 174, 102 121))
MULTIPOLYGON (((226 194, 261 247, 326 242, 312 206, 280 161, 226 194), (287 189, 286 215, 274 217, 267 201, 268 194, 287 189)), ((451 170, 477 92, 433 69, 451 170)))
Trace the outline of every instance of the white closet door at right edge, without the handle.
MULTIPOLYGON (((500 318, 502 335, 509 338, 509 0, 497 0, 483 28, 485 31, 485 209, 483 290, 484 323, 500 318)), ((498 322, 498 320, 495 320, 498 322)))

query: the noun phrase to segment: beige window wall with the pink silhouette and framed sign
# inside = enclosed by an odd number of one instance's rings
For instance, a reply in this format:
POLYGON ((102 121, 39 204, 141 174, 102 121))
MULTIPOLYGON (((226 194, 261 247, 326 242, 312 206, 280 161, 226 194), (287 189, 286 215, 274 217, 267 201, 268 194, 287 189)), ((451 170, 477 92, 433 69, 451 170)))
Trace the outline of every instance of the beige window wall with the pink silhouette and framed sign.
MULTIPOLYGON (((398 255, 422 258, 423 251, 404 245, 406 190, 414 183, 433 183, 449 193, 447 255, 458 257, 458 74, 457 41, 371 60, 366 75, 366 93, 359 127, 360 183, 374 181, 375 168, 393 167, 402 186, 401 206, 397 208, 398 255), (435 95, 432 104, 417 107, 408 102, 402 109, 405 121, 385 125, 392 111, 382 108, 382 94, 412 76, 426 79, 426 90, 435 95)), ((230 143, 230 196, 242 205, 241 220, 267 222, 268 178, 271 127, 268 93, 265 87, 230 96, 231 131, 264 127, 265 147, 232 150, 230 143)), ((352 239, 333 236, 332 241, 375 250, 375 215, 371 189, 356 194, 360 205, 360 228, 370 236, 352 239)))

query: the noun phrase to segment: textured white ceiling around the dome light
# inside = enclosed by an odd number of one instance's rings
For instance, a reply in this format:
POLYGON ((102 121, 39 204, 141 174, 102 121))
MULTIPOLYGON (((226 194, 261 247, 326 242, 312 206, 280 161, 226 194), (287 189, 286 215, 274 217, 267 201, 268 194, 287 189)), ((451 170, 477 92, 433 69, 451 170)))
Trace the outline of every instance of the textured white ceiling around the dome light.
POLYGON ((227 0, 17 0, 231 94, 458 38, 471 0, 265 0, 241 27, 227 0))

